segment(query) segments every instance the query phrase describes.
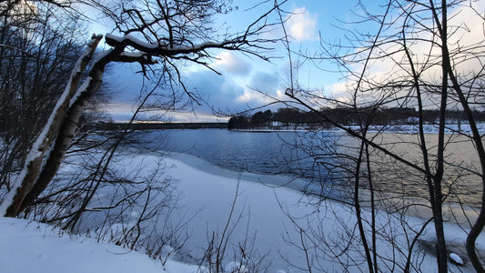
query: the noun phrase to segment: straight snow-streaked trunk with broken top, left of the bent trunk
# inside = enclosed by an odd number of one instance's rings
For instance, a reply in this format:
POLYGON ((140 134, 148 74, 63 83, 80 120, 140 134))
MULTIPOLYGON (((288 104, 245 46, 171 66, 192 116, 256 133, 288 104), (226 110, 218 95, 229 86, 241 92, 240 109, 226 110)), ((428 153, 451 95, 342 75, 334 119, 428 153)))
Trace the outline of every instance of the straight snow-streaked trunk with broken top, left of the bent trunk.
POLYGON ((81 76, 93 58, 97 44, 101 38, 101 35, 93 35, 91 41, 86 46, 86 50, 76 62, 76 66, 73 69, 64 93, 57 101, 42 132, 37 136, 35 143, 30 148, 19 177, 4 198, 2 205, 0 205, 0 215, 15 217, 20 213, 25 197, 34 187, 35 181, 42 172, 45 157, 49 157, 53 143, 56 141, 61 127, 65 123, 66 113, 71 107, 71 101, 78 94, 78 84, 81 76))

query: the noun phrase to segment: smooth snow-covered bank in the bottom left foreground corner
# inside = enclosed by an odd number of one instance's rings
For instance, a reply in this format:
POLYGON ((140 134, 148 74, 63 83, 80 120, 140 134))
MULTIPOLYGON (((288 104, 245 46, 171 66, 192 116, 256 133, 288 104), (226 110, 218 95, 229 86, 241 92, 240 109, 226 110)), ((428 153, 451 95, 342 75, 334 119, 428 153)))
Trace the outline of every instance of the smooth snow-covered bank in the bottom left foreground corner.
POLYGON ((158 261, 114 244, 24 219, 0 217, 0 271, 22 272, 197 272, 197 267, 158 261), (165 271, 162 270, 165 268, 165 271))

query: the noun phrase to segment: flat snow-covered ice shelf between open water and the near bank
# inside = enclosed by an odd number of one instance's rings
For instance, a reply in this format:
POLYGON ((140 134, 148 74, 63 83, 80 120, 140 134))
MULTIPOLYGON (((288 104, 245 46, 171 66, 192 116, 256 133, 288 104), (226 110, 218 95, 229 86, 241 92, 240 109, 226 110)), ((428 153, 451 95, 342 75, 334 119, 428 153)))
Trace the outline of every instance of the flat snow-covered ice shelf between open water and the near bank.
MULTIPOLYGON (((332 200, 320 203, 318 197, 304 195, 290 187, 267 187, 260 181, 268 180, 258 178, 260 177, 258 175, 246 176, 254 178, 250 181, 240 172, 224 170, 197 157, 184 157, 184 155, 173 157, 176 156, 174 154, 170 157, 168 153, 157 151, 144 153, 136 149, 131 151, 126 149, 123 154, 123 156, 120 155, 123 158, 113 163, 112 167, 115 170, 130 173, 132 167, 146 167, 147 170, 151 167, 163 167, 164 176, 175 178, 173 183, 177 187, 175 188, 177 197, 174 199, 176 201, 173 204, 174 210, 170 211, 169 218, 157 218, 154 227, 166 227, 164 225, 167 223, 172 225, 187 222, 187 231, 189 231, 187 241, 183 248, 179 249, 178 254, 173 256, 175 260, 187 264, 195 264, 195 258, 204 255, 204 249, 210 242, 210 235, 220 234, 221 228, 230 223, 231 235, 227 238, 229 245, 240 246, 241 242, 244 244, 249 240, 250 244, 254 244, 251 248, 258 249, 258 253, 263 253, 264 257, 268 258, 265 261, 270 261, 268 267, 271 272, 278 272, 278 270, 300 272, 287 270, 291 268, 288 264, 298 265, 305 262, 305 256, 301 255, 298 248, 288 245, 288 241, 298 242, 300 239, 300 229, 296 227, 308 232, 326 228, 328 235, 336 236, 344 234, 341 232, 347 230, 346 228, 352 230, 352 227, 356 227, 354 207, 332 200), (184 159, 185 162, 182 161, 184 159)), ((264 177, 275 181, 275 177, 278 176, 264 177)), ((285 181, 286 177, 278 178, 280 181, 282 179, 285 181)), ((362 216, 369 220, 372 217, 369 208, 362 207, 362 216)), ((388 232, 398 230, 408 234, 407 227, 421 227, 427 222, 423 218, 409 214, 405 214, 404 217, 399 213, 389 214, 383 209, 376 209, 375 217, 379 223, 379 232, 383 232, 379 233, 380 249, 386 249, 389 246, 386 237, 388 232)), ((468 228, 461 228, 451 223, 447 223, 445 228, 447 241, 460 247, 461 242, 466 238, 468 228)), ((410 235, 414 234, 413 230, 409 232, 410 235)), ((420 236, 419 243, 428 243, 433 238, 433 228, 429 225, 425 227, 425 233, 420 236)), ((483 239, 485 238, 480 237, 480 242, 483 239)), ((407 242, 401 236, 392 240, 403 245, 407 242)), ((453 249, 461 250, 459 247, 453 249)), ((227 248, 229 259, 226 262, 230 262, 230 258, 237 255, 237 250, 238 248, 227 248)), ((432 271, 436 264, 433 254, 426 251, 422 258, 426 264, 424 271, 432 271)), ((326 265, 330 269, 338 266, 338 263, 329 262, 326 265)), ((463 269, 468 268, 470 267, 463 269)), ((465 271, 468 272, 468 270, 465 271)))

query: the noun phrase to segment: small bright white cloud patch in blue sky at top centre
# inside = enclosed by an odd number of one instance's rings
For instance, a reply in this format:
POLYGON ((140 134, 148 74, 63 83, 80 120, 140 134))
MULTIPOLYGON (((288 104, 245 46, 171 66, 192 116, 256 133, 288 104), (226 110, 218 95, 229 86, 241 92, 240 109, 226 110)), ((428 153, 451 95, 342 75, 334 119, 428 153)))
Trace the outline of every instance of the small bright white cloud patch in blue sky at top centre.
POLYGON ((311 15, 305 6, 293 10, 287 21, 288 34, 298 40, 316 40, 317 15, 311 15))

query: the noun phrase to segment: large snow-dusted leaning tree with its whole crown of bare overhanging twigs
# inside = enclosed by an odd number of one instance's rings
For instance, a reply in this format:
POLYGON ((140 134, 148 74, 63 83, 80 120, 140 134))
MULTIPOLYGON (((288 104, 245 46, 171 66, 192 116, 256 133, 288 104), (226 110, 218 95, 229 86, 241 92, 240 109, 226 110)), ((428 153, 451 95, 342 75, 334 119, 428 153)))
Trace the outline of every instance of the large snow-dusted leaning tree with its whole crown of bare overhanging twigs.
MULTIPOLYGON (((266 16, 271 10, 257 18, 243 33, 214 35, 216 32, 210 27, 211 15, 227 12, 228 8, 226 3, 219 1, 198 1, 197 5, 187 1, 147 1, 111 9, 108 16, 114 19, 116 30, 123 35, 106 35, 106 44, 111 49, 98 54, 95 60, 93 56, 102 36, 94 35, 88 43, 73 69, 65 92, 31 147, 22 172, 4 198, 2 213, 5 216, 19 215, 51 183, 76 135, 79 118, 89 98, 101 85, 109 63, 138 63, 145 76, 159 73, 157 81, 167 86, 161 91, 168 91, 168 98, 175 100, 177 88, 181 88, 190 99, 195 100, 196 95, 187 90, 179 71, 179 66, 184 63, 210 68, 208 62, 213 58, 213 49, 237 50, 267 59, 262 55, 268 50, 264 42, 270 41, 258 35, 270 27, 266 16), (88 75, 84 78, 87 67, 88 75)), ((70 227, 75 227, 77 219, 93 200, 100 182, 105 180, 108 162, 112 160, 116 146, 106 152, 107 163, 104 167, 96 167, 95 177, 89 182, 82 206, 74 215, 71 214, 72 218, 67 223, 70 227)), ((150 193, 150 188, 146 189, 141 194, 150 193)))

